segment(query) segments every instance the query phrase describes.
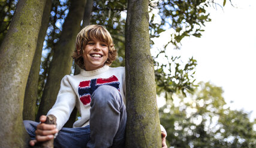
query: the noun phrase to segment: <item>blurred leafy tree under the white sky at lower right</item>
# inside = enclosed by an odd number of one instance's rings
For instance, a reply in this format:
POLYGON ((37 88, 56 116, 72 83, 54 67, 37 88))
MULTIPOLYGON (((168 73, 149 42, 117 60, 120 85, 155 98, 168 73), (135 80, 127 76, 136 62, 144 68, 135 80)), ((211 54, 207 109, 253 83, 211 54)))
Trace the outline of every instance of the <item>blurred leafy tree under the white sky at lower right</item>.
POLYGON ((231 110, 222 88, 200 82, 194 94, 173 97, 159 110, 171 147, 255 147, 256 121, 231 110))

